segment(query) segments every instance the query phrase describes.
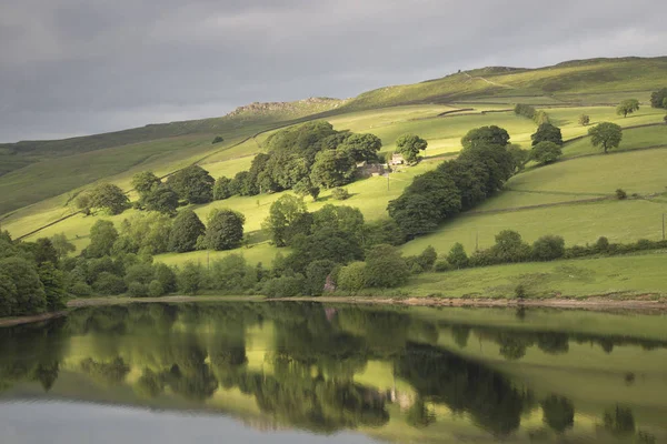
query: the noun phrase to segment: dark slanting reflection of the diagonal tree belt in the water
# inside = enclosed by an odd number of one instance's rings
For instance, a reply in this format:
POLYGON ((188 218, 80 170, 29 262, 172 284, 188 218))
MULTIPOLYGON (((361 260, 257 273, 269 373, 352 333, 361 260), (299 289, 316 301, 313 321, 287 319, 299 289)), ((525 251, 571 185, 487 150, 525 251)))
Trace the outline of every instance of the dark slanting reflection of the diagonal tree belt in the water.
POLYGON ((427 345, 408 344, 396 369, 421 396, 444 402, 454 411, 469 412, 480 426, 497 435, 519 427, 529 401, 500 373, 427 345))

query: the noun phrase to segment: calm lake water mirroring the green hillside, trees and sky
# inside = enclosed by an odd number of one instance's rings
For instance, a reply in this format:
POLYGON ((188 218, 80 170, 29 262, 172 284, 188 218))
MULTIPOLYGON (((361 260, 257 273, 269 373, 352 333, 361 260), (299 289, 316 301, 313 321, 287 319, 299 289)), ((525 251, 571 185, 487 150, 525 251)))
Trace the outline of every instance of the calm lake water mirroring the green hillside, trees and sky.
POLYGON ((661 443, 667 319, 136 304, 0 329, 0 443, 661 443))

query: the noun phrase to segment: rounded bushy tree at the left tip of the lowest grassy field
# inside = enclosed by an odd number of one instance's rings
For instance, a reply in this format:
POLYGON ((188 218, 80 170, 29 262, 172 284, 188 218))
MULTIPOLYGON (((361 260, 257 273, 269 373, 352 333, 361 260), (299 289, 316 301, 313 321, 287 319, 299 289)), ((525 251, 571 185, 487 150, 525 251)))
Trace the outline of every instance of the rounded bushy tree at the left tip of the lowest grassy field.
POLYGON ((410 271, 400 252, 391 245, 376 245, 366 252, 366 285, 396 287, 408 281, 410 271))

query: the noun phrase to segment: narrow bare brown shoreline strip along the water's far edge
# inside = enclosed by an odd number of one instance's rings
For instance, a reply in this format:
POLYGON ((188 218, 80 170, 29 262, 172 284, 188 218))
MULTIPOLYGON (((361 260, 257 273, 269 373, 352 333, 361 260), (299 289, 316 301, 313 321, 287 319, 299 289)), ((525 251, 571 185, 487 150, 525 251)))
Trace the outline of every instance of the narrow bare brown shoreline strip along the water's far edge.
POLYGON ((331 304, 366 304, 395 306, 432 306, 432 307, 497 307, 497 309, 565 309, 590 310, 600 312, 633 311, 633 312, 667 312, 667 299, 655 295, 635 296, 635 299, 613 299, 613 296, 590 296, 585 299, 466 299, 466 297, 381 297, 381 296, 307 296, 277 297, 265 296, 162 296, 162 297, 91 297, 68 301, 67 310, 42 313, 31 316, 0 319, 0 327, 16 326, 36 322, 49 321, 67 316, 70 310, 88 306, 111 306, 148 303, 195 303, 195 302, 318 302, 331 304))

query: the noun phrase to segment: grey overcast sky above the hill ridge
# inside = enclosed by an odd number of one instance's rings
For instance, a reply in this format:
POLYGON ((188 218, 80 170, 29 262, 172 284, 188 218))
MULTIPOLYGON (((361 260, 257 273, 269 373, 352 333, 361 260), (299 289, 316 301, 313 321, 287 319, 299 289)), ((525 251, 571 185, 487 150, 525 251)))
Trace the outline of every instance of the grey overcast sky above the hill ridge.
POLYGON ((0 141, 491 64, 666 56, 666 17, 665 0, 0 0, 0 141))

